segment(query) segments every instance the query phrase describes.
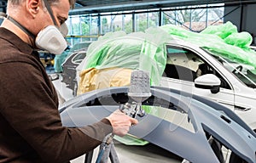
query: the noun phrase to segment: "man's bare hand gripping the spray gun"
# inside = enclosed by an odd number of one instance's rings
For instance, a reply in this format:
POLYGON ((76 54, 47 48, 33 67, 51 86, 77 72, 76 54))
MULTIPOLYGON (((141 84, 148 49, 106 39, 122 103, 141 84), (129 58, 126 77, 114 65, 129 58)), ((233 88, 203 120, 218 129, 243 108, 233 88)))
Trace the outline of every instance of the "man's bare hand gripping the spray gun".
POLYGON ((106 117, 113 127, 113 134, 124 137, 129 132, 131 125, 137 124, 137 119, 125 115, 120 110, 115 110, 111 115, 106 117))

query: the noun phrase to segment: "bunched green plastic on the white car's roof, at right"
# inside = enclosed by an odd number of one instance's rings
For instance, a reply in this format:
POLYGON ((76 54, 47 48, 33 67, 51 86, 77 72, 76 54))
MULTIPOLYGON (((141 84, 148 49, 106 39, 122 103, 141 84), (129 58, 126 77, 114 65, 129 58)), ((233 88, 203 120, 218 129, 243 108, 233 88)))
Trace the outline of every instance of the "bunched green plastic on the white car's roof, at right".
POLYGON ((250 48, 253 37, 247 31, 238 32, 230 21, 223 25, 211 25, 200 33, 187 31, 176 25, 160 27, 172 37, 197 44, 216 55, 256 67, 256 52, 250 48))

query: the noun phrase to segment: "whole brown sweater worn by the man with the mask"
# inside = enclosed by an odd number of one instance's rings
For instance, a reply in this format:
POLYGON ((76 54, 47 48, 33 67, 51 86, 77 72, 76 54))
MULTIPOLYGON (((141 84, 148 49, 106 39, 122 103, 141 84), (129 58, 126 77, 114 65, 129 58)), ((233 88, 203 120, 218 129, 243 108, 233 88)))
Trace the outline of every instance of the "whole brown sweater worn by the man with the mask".
POLYGON ((38 53, 4 28, 0 75, 0 162, 68 162, 113 130, 107 119, 81 128, 62 126, 57 93, 38 53))

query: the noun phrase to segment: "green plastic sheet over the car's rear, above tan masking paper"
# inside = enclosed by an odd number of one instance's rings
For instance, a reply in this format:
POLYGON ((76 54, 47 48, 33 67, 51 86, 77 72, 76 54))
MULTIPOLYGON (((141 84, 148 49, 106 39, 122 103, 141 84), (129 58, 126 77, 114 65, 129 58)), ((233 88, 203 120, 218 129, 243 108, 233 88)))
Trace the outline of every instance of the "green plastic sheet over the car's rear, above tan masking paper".
POLYGON ((172 37, 160 28, 131 34, 109 32, 91 43, 84 69, 119 67, 146 70, 150 72, 150 84, 157 85, 166 66, 165 42, 170 39, 172 37))

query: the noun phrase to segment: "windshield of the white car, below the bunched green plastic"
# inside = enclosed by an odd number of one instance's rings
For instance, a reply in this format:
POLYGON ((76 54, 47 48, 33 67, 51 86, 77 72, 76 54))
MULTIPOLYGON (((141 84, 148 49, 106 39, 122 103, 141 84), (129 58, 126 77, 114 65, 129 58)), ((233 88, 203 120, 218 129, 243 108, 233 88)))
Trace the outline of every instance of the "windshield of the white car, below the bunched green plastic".
POLYGON ((237 76, 241 82, 245 83, 247 87, 256 88, 256 69, 253 65, 249 65, 238 59, 229 59, 209 49, 204 50, 210 53, 215 59, 218 59, 227 70, 230 70, 230 72, 237 76))

